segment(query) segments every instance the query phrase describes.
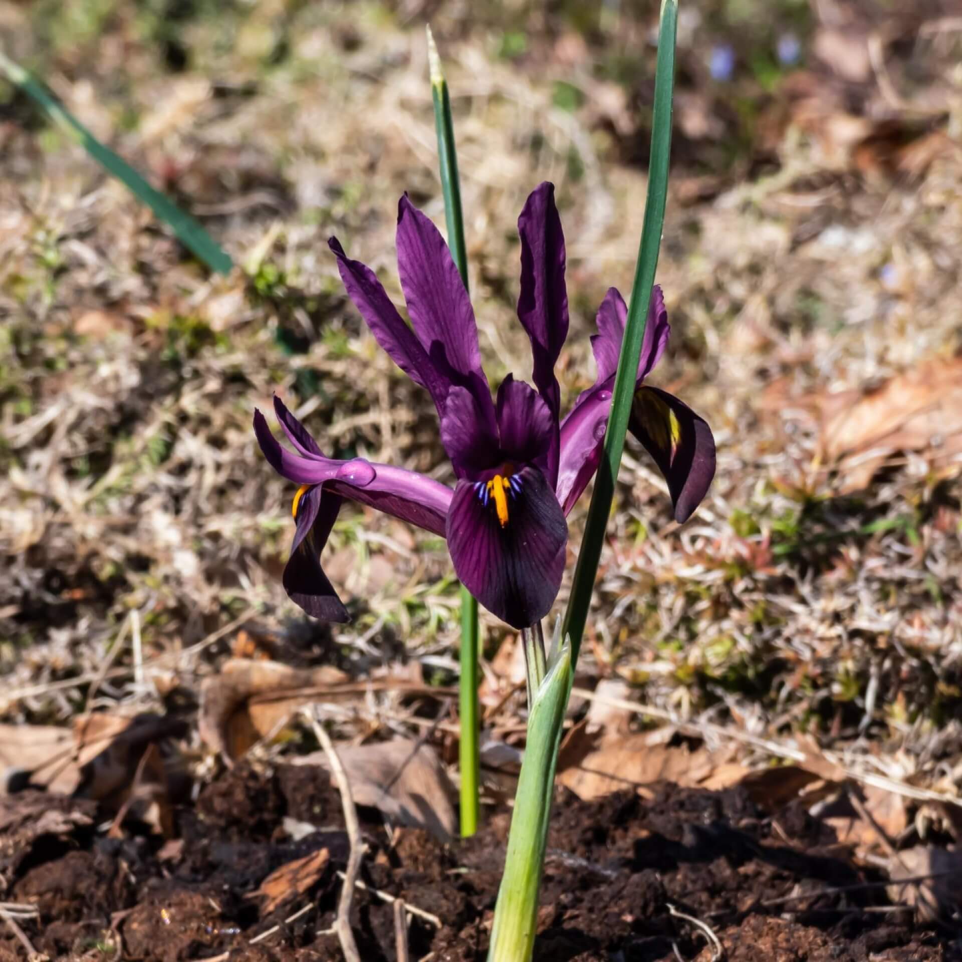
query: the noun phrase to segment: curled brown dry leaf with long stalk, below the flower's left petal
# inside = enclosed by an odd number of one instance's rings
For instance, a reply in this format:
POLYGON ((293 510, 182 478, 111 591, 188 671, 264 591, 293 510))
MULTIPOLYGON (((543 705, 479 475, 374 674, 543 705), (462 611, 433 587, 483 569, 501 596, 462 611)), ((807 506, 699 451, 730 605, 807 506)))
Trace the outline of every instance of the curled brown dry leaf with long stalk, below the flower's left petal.
POLYGON ((200 737, 233 762, 261 739, 276 734, 306 704, 363 701, 371 691, 446 697, 448 689, 404 678, 351 681, 340 669, 294 669, 279 662, 232 658, 200 690, 200 737))

